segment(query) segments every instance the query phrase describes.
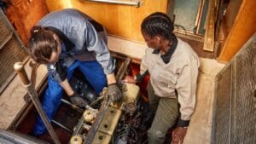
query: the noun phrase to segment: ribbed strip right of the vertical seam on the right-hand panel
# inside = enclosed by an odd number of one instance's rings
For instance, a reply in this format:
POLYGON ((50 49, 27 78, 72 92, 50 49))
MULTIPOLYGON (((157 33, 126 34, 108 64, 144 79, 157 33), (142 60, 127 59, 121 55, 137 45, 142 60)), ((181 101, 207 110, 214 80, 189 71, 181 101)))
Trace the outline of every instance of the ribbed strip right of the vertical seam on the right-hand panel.
POLYGON ((256 38, 236 57, 236 143, 256 143, 256 38))

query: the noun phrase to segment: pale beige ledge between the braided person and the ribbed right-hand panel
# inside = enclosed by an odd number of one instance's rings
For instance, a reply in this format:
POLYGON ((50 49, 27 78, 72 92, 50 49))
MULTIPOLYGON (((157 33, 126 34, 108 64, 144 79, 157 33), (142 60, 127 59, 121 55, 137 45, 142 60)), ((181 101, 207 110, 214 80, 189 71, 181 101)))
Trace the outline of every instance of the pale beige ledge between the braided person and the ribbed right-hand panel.
POLYGON ((217 60, 201 58, 195 113, 183 144, 210 144, 215 76, 224 67, 217 60))

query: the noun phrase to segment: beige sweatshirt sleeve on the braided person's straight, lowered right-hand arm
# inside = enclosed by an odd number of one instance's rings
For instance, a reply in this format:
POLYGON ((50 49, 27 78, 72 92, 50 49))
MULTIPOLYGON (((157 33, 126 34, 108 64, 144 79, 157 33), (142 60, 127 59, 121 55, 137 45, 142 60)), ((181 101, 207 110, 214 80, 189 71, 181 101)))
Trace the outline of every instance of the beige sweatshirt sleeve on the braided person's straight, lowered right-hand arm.
POLYGON ((183 66, 180 76, 177 78, 177 95, 180 104, 180 119, 188 121, 195 110, 196 81, 199 64, 197 61, 189 62, 183 66))

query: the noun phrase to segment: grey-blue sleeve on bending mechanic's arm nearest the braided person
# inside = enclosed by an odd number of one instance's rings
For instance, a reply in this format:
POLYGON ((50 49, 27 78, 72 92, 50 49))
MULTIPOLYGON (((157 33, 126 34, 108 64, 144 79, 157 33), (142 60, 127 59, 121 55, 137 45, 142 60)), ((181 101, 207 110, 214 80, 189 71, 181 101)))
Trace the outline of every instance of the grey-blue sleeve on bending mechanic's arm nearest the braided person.
POLYGON ((96 54, 96 60, 100 63, 105 74, 113 73, 115 69, 114 60, 109 53, 108 46, 97 34, 95 28, 89 23, 85 23, 87 26, 86 31, 84 32, 85 44, 89 51, 92 51, 96 54))

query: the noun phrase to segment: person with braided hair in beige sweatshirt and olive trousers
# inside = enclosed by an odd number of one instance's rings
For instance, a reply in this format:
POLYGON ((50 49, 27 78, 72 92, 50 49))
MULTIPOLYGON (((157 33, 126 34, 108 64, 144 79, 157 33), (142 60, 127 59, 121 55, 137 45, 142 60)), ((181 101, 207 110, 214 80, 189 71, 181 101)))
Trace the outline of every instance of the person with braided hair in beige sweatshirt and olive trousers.
POLYGON ((127 76, 125 82, 141 82, 144 76, 150 75, 148 99, 155 115, 148 130, 148 143, 163 143, 167 130, 176 122, 172 144, 183 143, 195 110, 199 58, 188 43, 172 33, 173 23, 166 14, 148 15, 141 28, 149 48, 143 56, 140 72, 135 78, 127 76))

